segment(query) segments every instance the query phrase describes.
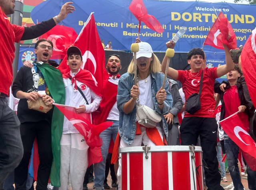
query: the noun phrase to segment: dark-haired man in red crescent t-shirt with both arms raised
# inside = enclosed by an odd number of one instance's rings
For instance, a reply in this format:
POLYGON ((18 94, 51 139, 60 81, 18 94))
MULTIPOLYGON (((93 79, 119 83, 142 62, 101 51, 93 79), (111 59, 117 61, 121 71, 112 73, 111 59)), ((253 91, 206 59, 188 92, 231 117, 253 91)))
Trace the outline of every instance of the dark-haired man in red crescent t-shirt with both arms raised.
MULTIPOLYGON (((170 40, 166 43, 167 48, 174 48, 175 43, 170 40)), ((224 45, 226 53, 226 65, 213 68, 205 68, 202 81, 201 93, 201 109, 193 115, 186 113, 180 126, 181 145, 196 145, 198 136, 200 136, 201 146, 203 150, 203 158, 206 162, 204 169, 206 186, 208 190, 223 190, 220 186, 220 172, 218 170, 217 160, 217 131, 218 126, 215 120, 215 100, 213 96, 214 81, 234 68, 232 57, 229 49, 224 45)), ((165 71, 168 57, 164 57, 162 62, 162 71, 165 71)), ((173 68, 168 68, 168 76, 173 79, 178 79, 182 83, 182 89, 185 94, 185 99, 193 93, 199 93, 200 78, 203 66, 206 64, 204 51, 200 48, 194 48, 188 53, 188 64, 190 71, 177 71, 173 68)))

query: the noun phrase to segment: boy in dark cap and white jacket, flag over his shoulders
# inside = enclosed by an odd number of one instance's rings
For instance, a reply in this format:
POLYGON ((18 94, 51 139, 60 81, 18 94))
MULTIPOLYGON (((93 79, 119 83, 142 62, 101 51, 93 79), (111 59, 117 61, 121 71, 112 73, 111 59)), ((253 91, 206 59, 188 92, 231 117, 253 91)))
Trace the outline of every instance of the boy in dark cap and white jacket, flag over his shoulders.
MULTIPOLYGON (((90 121, 92 112, 100 106, 101 95, 92 73, 80 67, 83 64, 82 53, 76 46, 67 50, 68 73, 63 74, 66 93, 65 105, 77 107, 77 113, 87 113, 90 121)), ((69 175, 72 189, 81 190, 88 168, 88 144, 72 123, 64 117, 60 140, 60 188, 69 189, 69 175)))

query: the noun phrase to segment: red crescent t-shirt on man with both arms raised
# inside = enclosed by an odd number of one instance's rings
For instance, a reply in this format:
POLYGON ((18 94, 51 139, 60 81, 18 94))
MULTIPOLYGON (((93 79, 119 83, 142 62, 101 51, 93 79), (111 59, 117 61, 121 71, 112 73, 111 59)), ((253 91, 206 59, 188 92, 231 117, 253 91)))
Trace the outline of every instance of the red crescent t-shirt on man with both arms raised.
MULTIPOLYGON (((187 100, 193 93, 199 93, 202 69, 198 73, 178 70, 178 80, 182 83, 182 89, 187 100)), ((193 115, 186 113, 184 117, 215 117, 214 81, 217 78, 217 67, 205 68, 203 75, 201 109, 193 115)))

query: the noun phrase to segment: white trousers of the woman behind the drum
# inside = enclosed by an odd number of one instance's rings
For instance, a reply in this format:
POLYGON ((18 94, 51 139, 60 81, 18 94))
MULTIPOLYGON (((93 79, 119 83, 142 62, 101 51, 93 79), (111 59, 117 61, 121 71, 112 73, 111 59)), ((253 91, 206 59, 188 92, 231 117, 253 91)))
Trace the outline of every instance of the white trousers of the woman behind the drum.
MULTIPOLYGON (((156 129, 158 130, 162 140, 164 139, 164 131, 162 129, 162 127, 157 126, 156 129)), ((120 148, 124 148, 124 147, 132 147, 132 146, 141 146, 141 144, 146 144, 148 146, 156 146, 155 143, 153 143, 149 138, 148 135, 146 134, 146 128, 145 127, 140 127, 141 130, 141 135, 135 135, 134 141, 132 143, 132 145, 128 145, 126 143, 124 143, 124 141, 121 138, 120 141, 120 148)), ((117 181, 118 181, 118 190, 122 189, 121 186, 121 159, 118 160, 119 161, 119 167, 117 170, 117 181)))

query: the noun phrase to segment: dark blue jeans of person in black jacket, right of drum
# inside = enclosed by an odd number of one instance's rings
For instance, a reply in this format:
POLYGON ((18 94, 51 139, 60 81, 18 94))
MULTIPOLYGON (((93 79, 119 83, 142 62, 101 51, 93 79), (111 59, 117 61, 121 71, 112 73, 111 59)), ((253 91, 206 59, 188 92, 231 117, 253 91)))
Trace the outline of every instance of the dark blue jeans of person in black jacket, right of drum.
POLYGON ((228 161, 228 170, 232 178, 235 190, 244 190, 238 168, 239 147, 227 135, 224 134, 224 146, 228 161))

